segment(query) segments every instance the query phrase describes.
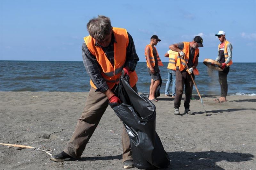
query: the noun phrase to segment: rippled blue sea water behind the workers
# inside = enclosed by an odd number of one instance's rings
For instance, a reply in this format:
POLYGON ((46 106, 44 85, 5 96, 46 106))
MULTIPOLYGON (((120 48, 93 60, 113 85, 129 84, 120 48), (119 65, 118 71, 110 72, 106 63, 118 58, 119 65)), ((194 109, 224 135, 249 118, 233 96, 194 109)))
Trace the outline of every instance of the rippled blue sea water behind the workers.
MULTIPOLYGON (((160 93, 167 81, 167 65, 160 67, 163 80, 160 93)), ((228 73, 228 95, 256 95, 256 63, 233 63, 228 73)), ((209 70, 203 63, 197 69, 195 82, 201 95, 220 95, 218 71, 209 70)), ((145 62, 138 62, 137 88, 149 92, 150 76, 145 62)), ((0 61, 0 91, 60 91, 87 92, 90 78, 83 62, 55 61, 0 61)), ((170 86, 170 92, 172 85, 170 86)), ((193 94, 197 94, 194 87, 193 94)))

